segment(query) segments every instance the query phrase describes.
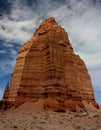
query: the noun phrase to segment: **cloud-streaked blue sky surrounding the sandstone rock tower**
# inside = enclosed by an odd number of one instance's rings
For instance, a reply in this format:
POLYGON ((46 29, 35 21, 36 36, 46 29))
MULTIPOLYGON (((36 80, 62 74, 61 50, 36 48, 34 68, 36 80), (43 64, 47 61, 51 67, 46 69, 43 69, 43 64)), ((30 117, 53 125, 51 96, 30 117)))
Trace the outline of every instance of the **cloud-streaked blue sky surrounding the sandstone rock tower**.
POLYGON ((18 49, 50 16, 68 32, 101 104, 101 0, 0 0, 0 98, 2 77, 13 72, 18 49))

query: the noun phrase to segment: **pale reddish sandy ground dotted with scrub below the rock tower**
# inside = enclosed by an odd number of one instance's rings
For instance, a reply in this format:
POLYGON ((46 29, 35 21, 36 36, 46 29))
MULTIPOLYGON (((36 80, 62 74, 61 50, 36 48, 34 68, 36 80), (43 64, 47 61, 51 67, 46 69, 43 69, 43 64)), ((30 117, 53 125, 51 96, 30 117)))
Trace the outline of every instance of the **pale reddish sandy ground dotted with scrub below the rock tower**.
POLYGON ((0 112, 0 130, 101 130, 101 111, 44 112, 26 103, 0 112))

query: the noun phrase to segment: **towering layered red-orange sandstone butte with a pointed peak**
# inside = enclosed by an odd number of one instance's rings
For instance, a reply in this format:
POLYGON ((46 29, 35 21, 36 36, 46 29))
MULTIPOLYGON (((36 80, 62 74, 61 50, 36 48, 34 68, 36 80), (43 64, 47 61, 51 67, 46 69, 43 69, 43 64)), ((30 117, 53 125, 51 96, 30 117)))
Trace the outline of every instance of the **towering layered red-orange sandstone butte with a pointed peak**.
POLYGON ((47 110, 75 111, 77 105, 84 108, 84 101, 97 107, 86 66, 74 54, 68 34, 53 17, 43 21, 20 48, 9 96, 3 100, 17 103, 39 99, 47 110))

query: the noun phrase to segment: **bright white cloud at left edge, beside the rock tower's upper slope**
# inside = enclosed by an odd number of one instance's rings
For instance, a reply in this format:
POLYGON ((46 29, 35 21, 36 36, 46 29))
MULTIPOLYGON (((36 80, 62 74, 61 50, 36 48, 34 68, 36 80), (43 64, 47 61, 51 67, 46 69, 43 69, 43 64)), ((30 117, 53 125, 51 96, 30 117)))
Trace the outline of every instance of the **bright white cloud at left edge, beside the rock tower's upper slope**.
POLYGON ((0 38, 6 42, 21 44, 31 37, 35 22, 36 18, 26 21, 12 21, 4 16, 0 21, 0 38))

